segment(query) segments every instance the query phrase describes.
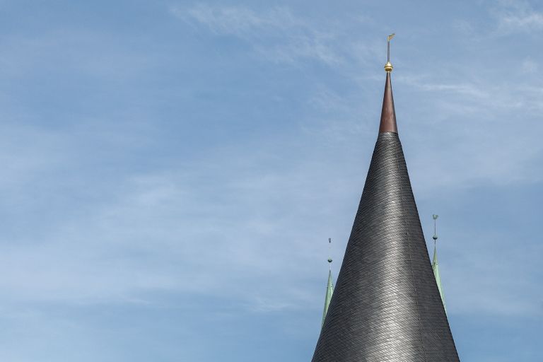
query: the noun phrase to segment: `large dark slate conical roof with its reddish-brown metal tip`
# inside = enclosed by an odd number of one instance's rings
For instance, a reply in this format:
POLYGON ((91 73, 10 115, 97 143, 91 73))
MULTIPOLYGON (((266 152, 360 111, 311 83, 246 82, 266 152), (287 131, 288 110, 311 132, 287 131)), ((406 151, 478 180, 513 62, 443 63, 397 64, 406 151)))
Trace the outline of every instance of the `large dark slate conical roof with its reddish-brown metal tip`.
POLYGON ((390 71, 366 185, 312 361, 459 361, 398 138, 390 71))

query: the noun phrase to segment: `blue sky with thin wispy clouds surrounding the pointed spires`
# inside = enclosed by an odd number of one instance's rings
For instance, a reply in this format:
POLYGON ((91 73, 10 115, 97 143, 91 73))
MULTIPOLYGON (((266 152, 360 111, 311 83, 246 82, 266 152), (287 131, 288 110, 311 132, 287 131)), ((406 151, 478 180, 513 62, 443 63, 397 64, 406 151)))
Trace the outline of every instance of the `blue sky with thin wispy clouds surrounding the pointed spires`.
POLYGON ((541 3, 0 1, 0 18, 1 361, 310 361, 392 32, 460 358, 540 361, 541 3))

